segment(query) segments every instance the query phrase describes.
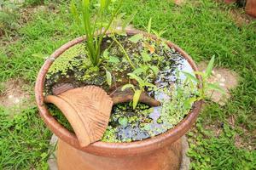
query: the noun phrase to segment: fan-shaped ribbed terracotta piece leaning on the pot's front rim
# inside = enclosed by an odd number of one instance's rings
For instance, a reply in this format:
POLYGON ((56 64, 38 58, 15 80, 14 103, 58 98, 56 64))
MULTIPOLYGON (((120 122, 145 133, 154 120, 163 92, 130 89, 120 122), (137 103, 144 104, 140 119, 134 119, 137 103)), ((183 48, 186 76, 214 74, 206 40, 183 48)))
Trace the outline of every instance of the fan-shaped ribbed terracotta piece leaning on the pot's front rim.
POLYGON ((82 147, 102 139, 113 106, 102 88, 74 88, 56 96, 49 95, 44 101, 56 105, 67 117, 82 147))

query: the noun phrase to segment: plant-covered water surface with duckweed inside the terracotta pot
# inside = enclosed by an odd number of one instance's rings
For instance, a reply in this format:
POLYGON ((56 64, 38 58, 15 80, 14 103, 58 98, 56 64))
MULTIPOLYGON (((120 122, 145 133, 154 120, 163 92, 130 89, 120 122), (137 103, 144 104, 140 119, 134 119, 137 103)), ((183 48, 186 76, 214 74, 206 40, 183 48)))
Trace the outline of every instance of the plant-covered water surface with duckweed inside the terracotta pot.
MULTIPOLYGON (((114 105, 102 141, 131 142, 165 133, 181 122, 193 107, 191 99, 198 95, 197 88, 194 83, 188 83, 183 74, 183 71, 193 73, 193 69, 181 54, 165 42, 154 41, 150 37, 137 40, 131 36, 115 37, 120 44, 113 41, 112 36, 104 37, 102 62, 97 67, 90 66, 86 42, 67 49, 50 67, 44 94, 53 94, 63 84, 73 88, 96 85, 112 94, 127 83, 137 88, 138 83, 127 76, 133 73, 155 85, 155 88, 145 87, 144 93, 160 101, 161 105, 152 107, 138 103, 135 109, 131 102, 114 105), (109 73, 111 83, 107 76, 109 73)), ((64 127, 73 131, 61 111, 53 105, 49 105, 49 111, 64 127)))

